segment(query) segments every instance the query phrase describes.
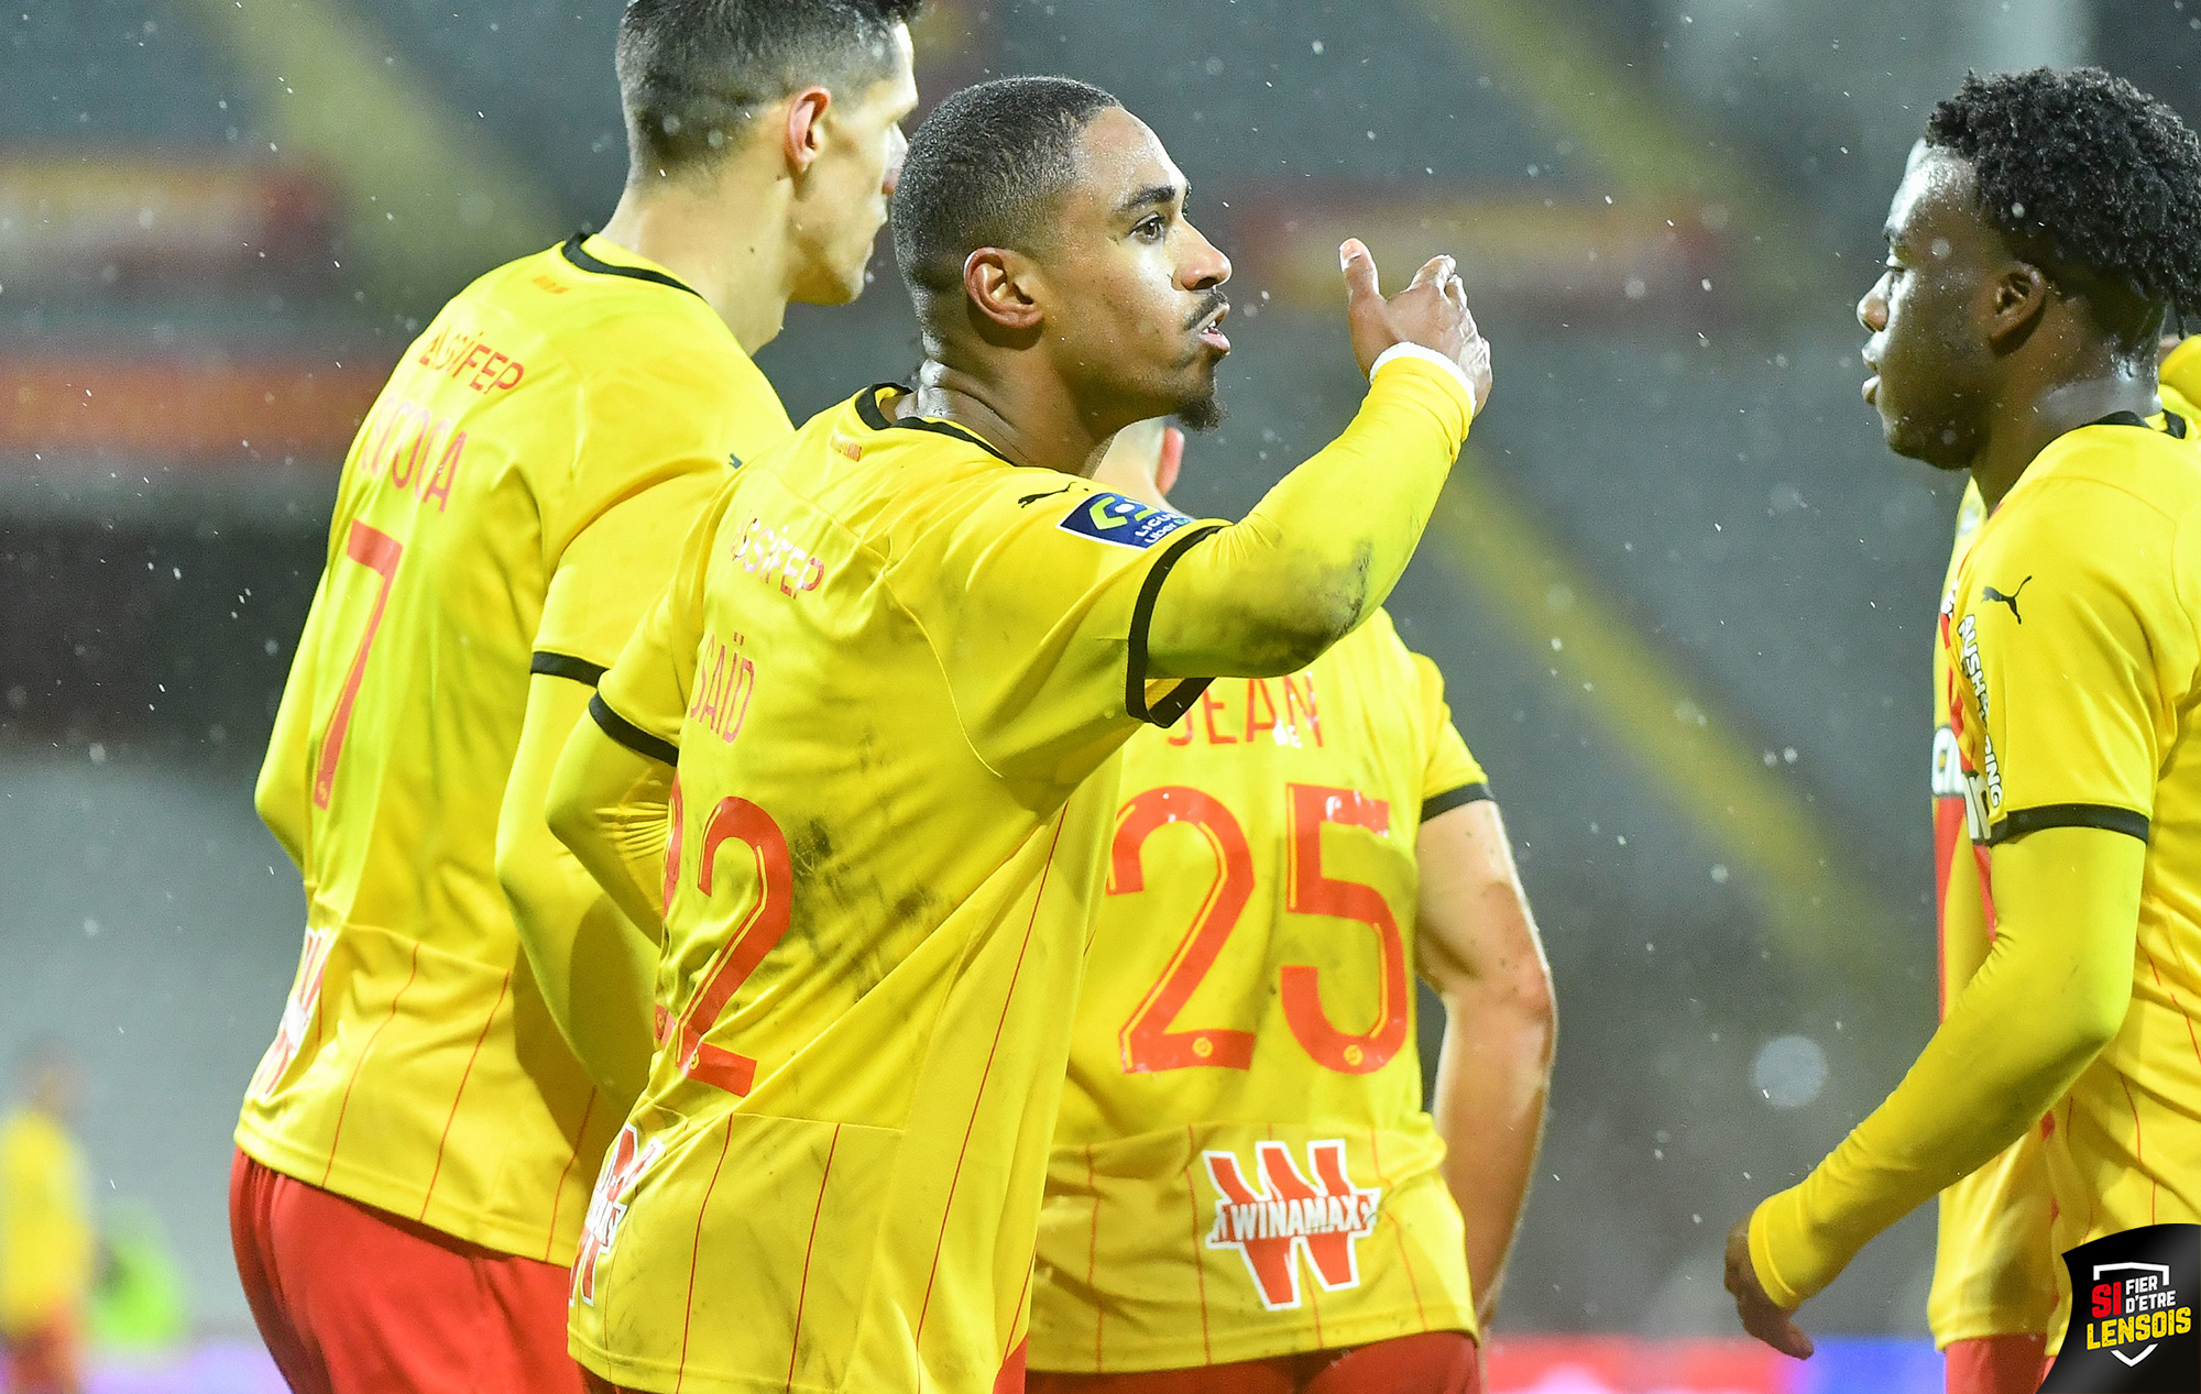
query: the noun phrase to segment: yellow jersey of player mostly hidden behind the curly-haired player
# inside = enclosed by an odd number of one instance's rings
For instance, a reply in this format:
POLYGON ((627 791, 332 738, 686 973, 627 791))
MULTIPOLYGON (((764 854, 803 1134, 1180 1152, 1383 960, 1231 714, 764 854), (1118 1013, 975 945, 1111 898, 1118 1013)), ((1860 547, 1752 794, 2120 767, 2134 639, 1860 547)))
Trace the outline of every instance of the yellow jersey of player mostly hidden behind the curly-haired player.
MULTIPOLYGON (((1941 594, 1957 585, 1988 508, 1965 484, 1957 508, 1957 541, 1941 594)), ((1957 679, 1939 635, 1932 644, 1932 840, 1935 939, 1941 1014, 1988 961, 1994 932, 1985 919, 1981 864, 1965 833, 1963 763, 1948 712, 1957 679)), ((2056 1302, 2056 1253, 2049 1249, 2049 1196, 2040 1135, 2027 1132, 1994 1161, 1941 1192, 1932 1293, 1926 1321, 1937 1346, 1999 1335, 2045 1332, 2056 1302)))

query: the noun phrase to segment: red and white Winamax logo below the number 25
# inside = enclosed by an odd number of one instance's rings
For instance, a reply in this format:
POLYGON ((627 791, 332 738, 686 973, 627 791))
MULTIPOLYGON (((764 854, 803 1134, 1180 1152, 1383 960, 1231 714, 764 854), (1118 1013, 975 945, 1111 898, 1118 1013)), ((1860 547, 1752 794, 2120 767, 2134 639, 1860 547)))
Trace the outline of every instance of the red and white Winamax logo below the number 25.
POLYGON ((1376 1229, 1382 1190, 1362 1190, 1345 1174, 1340 1139, 1307 1143, 1307 1172, 1285 1143, 1255 1143, 1263 1181, 1255 1190, 1237 1152, 1202 1152, 1208 1181, 1222 1192, 1208 1249, 1237 1249, 1252 1273, 1261 1306, 1272 1313, 1299 1306, 1299 1258, 1305 1255, 1323 1291, 1360 1286, 1356 1240, 1376 1229))

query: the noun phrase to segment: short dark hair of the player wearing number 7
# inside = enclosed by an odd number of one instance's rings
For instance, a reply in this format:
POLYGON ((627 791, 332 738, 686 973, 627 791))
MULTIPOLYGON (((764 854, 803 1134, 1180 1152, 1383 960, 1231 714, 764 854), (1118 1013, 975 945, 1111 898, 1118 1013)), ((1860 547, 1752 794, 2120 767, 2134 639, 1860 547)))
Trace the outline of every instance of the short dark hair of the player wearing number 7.
POLYGON ((629 0, 618 103, 634 172, 715 163, 759 108, 806 86, 885 77, 924 0, 629 0))

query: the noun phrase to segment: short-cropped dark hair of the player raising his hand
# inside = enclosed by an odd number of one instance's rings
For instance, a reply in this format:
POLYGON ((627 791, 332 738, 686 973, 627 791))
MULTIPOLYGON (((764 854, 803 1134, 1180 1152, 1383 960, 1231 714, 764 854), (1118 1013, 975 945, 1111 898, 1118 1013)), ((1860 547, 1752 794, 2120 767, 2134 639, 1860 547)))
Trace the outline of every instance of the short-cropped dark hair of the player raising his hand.
POLYGON ((1001 77, 953 92, 909 141, 894 187, 894 262, 922 312, 962 288, 979 246, 1032 251, 1076 180, 1078 136, 1123 106, 1074 77, 1001 77))

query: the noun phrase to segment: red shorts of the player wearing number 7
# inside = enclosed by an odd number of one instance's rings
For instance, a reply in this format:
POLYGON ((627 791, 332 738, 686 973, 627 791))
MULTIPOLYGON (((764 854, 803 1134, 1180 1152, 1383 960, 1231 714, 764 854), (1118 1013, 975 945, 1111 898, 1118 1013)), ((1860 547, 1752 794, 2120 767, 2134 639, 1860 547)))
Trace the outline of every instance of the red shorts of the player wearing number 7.
POLYGON ((559 1264, 497 1253, 244 1152, 229 1238, 253 1321, 295 1394, 581 1394, 559 1264))

